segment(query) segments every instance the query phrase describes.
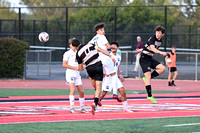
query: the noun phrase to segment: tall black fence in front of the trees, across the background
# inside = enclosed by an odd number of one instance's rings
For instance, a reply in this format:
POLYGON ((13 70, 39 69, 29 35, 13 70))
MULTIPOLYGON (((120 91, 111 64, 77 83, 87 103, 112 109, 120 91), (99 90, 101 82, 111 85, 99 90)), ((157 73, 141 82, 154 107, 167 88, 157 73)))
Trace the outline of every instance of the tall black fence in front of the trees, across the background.
MULTIPOLYGON (((163 25, 166 29, 166 36, 163 47, 171 47, 176 45, 178 48, 200 48, 200 22, 199 14, 189 17, 188 14, 181 13, 177 18, 171 20, 171 14, 184 11, 188 6, 98 6, 98 7, 18 7, 18 8, 0 8, 3 10, 12 10, 15 13, 13 18, 0 18, 0 37, 14 37, 24 40, 33 46, 68 46, 68 39, 76 37, 82 43, 87 43, 94 35, 94 25, 99 22, 106 24, 106 36, 108 40, 118 41, 121 46, 131 46, 131 50, 136 48, 136 37, 141 36, 142 41, 146 42, 150 36, 154 34, 157 25, 163 25), (72 19, 70 16, 74 10, 81 9, 91 10, 90 19, 87 21, 79 20, 79 16, 75 15, 72 19), (111 10, 105 16, 95 16, 95 9, 100 11, 111 10), (140 11, 133 12, 135 9, 155 11, 155 14, 146 14, 147 20, 140 20, 140 11), (35 11, 41 10, 43 14, 37 15, 35 11), (157 11, 157 12, 156 12, 157 11), (52 20, 48 18, 51 13, 62 12, 62 18, 52 20), (130 12, 130 20, 124 19, 123 13, 130 12), (35 13, 35 14, 34 14, 35 13), (137 16, 134 16, 134 13, 137 16), (159 18, 156 18, 159 13, 159 18), (150 15, 150 16, 149 16, 150 15), (148 18, 154 18, 154 21, 148 21, 148 18), (41 16, 41 17, 39 17, 41 16), (110 20, 104 21, 105 17, 110 16, 110 20), (99 17, 97 20, 91 18, 99 17), (136 17, 132 19, 131 17, 136 17), (102 19, 101 19, 102 18, 102 19), (180 21, 182 18, 182 21, 180 21), (184 19, 183 19, 184 18, 184 19), (175 21, 176 19, 176 21, 175 21), (190 24, 191 20, 197 23, 190 24), (160 20, 160 21, 157 21, 160 20), (183 21, 184 20, 184 21, 183 21), (50 40, 43 44, 39 42, 38 35, 40 32, 46 31, 50 35, 50 40)), ((199 6, 191 6, 199 10, 199 6)), ((144 16, 143 16, 144 17, 144 16)))

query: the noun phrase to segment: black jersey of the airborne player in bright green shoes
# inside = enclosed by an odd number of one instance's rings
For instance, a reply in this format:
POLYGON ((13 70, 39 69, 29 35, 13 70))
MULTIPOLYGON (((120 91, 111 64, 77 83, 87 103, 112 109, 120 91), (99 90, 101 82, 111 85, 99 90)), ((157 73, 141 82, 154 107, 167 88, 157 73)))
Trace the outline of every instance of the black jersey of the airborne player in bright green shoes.
POLYGON ((142 53, 146 54, 148 56, 153 56, 154 52, 151 51, 150 45, 154 45, 155 48, 158 49, 160 47, 161 43, 162 43, 162 39, 158 40, 156 38, 156 35, 154 35, 153 37, 149 38, 149 40, 147 41, 147 43, 144 45, 142 53))

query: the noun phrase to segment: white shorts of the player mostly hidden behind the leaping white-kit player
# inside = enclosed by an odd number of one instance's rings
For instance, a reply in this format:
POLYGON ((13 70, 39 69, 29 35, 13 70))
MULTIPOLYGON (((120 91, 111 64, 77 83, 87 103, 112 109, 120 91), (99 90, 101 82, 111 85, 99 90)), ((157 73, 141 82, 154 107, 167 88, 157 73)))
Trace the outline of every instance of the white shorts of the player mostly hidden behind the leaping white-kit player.
MULTIPOLYGON (((119 78, 117 78, 117 84, 118 84, 118 85, 117 85, 117 86, 118 86, 118 89, 124 87, 119 78)), ((108 81, 105 81, 105 78, 103 78, 103 82, 102 82, 102 91, 111 92, 112 89, 113 89, 113 88, 112 88, 112 78, 110 77, 110 78, 108 79, 108 81)))

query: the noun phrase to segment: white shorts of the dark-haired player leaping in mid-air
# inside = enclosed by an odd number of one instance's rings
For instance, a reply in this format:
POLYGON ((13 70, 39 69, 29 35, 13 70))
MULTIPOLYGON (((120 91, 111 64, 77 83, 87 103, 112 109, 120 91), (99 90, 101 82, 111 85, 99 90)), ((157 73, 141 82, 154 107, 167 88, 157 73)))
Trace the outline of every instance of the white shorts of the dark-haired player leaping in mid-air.
POLYGON ((112 62, 112 59, 110 57, 101 56, 100 59, 103 64, 104 74, 110 75, 111 73, 115 72, 114 63, 112 62))

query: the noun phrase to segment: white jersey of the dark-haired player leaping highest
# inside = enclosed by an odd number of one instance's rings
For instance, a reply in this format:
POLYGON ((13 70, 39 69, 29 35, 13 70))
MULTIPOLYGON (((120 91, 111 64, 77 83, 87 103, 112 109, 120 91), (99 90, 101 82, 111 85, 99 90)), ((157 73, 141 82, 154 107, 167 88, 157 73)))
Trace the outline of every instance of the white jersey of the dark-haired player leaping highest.
MULTIPOLYGON (((98 47, 100 47, 101 49, 108 51, 106 44, 108 43, 108 40, 106 39, 106 37, 104 35, 99 35, 96 34, 96 36, 94 36, 92 38, 91 41, 89 41, 89 43, 92 43, 98 47)), ((101 58, 101 56, 106 56, 103 53, 99 52, 99 57, 101 58)), ((107 56, 108 57, 108 56, 107 56)))

